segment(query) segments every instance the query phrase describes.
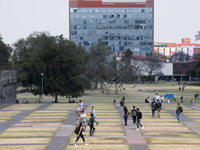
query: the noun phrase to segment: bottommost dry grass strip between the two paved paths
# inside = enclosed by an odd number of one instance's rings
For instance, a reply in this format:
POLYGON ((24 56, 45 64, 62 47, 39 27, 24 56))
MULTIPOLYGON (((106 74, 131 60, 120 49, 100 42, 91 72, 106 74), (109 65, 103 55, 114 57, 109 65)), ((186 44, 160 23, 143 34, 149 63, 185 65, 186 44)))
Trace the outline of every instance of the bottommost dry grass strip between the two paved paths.
POLYGON ((64 150, 130 150, 129 145, 67 145, 64 150))

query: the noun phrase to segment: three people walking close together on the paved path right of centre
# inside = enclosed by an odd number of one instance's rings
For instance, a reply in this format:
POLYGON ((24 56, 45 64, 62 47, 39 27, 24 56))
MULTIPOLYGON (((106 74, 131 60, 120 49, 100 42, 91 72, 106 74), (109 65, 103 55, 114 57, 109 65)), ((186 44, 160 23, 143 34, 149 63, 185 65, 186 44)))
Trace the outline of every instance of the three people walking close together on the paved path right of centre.
POLYGON ((127 107, 124 106, 123 117, 124 117, 125 126, 127 126, 127 120, 128 120, 129 115, 131 115, 133 119, 133 125, 135 126, 137 124, 136 130, 140 130, 139 127, 144 129, 144 126, 141 124, 142 113, 140 112, 139 108, 135 109, 135 106, 133 106, 133 109, 131 110, 131 113, 130 113, 127 107))

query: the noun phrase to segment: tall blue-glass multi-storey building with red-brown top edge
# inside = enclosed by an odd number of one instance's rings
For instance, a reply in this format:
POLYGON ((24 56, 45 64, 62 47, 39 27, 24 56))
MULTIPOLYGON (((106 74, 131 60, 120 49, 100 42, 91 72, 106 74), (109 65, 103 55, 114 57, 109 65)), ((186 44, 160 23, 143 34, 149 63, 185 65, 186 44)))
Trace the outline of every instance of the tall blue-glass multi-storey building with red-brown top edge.
POLYGON ((154 0, 69 0, 69 11, 69 38, 86 50, 101 39, 115 54, 152 55, 154 0))

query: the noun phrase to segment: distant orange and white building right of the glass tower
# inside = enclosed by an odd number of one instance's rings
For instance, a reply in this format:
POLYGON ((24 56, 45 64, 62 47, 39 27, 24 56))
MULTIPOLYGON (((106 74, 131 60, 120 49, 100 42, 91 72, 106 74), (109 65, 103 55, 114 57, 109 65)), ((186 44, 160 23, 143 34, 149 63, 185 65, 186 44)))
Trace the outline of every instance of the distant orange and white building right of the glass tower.
POLYGON ((160 53, 170 58, 176 52, 184 52, 190 56, 200 53, 200 44, 191 43, 190 38, 183 38, 182 43, 154 42, 154 53, 160 53))

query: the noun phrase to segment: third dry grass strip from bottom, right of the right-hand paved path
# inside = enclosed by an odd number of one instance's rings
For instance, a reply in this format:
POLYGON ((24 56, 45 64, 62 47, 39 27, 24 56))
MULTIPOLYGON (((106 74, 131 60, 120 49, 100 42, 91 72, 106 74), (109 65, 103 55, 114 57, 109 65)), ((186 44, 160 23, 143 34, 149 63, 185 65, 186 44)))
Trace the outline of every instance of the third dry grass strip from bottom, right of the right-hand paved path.
POLYGON ((195 132, 142 132, 143 136, 197 137, 195 132))

